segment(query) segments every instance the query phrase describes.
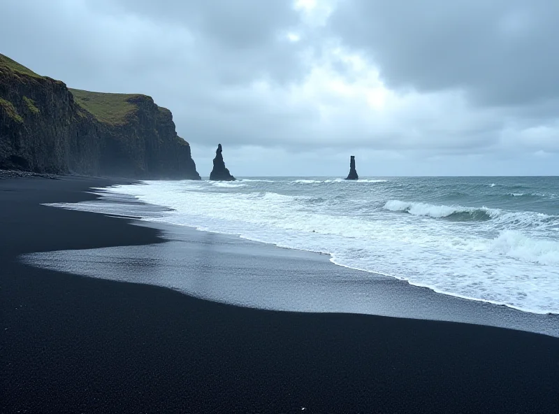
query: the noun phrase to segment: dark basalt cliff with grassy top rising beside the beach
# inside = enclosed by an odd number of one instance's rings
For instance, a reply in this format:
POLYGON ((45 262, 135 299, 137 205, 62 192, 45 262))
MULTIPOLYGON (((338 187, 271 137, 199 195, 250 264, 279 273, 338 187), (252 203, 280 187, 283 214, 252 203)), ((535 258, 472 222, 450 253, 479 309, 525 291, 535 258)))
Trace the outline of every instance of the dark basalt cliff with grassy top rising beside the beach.
POLYGON ((151 97, 68 89, 4 55, 0 169, 200 179, 173 115, 151 97))

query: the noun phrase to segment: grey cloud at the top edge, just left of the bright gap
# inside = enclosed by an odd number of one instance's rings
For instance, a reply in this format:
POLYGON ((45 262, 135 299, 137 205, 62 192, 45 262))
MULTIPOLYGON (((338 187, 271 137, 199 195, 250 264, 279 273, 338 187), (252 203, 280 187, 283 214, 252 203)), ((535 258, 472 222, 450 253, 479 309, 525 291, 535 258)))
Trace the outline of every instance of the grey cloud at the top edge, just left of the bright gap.
MULTIPOLYGON (((99 12, 184 29, 193 39, 191 48, 204 59, 204 70, 216 72, 223 83, 242 83, 255 76, 285 83, 300 77, 296 45, 285 39, 286 31, 300 26, 289 0, 87 0, 87 4, 99 12)), ((173 53, 188 55, 189 50, 173 53)))

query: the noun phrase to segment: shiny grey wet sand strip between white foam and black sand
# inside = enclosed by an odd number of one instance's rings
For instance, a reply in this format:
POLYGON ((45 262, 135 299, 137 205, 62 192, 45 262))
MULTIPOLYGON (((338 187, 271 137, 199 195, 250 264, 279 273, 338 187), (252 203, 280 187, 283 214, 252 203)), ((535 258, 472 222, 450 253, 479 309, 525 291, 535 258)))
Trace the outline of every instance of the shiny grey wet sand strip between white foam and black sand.
POLYGON ((327 255, 191 227, 135 223, 160 229, 166 243, 38 252, 21 259, 43 269, 168 287, 249 308, 446 320, 559 337, 559 315, 436 294, 389 276, 335 266, 327 255))

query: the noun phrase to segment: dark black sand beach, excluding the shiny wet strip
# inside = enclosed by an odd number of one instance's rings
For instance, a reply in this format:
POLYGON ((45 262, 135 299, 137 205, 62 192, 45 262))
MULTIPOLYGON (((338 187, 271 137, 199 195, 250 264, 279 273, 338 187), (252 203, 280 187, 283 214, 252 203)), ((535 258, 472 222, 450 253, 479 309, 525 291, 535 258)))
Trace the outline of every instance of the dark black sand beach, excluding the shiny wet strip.
POLYGON ((17 261, 160 243, 129 220, 39 205, 115 182, 0 180, 3 413, 559 412, 559 338, 239 308, 17 261))

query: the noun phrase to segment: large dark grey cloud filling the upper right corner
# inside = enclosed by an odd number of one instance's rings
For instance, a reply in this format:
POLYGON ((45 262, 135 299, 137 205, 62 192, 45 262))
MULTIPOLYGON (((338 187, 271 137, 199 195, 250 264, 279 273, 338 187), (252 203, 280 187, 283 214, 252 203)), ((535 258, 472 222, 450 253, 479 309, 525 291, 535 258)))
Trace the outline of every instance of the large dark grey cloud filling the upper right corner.
POLYGON ((391 87, 459 88, 485 105, 559 96, 555 0, 346 0, 330 24, 391 87))

